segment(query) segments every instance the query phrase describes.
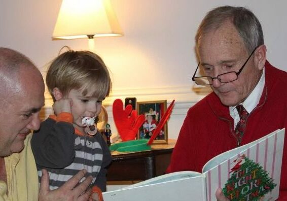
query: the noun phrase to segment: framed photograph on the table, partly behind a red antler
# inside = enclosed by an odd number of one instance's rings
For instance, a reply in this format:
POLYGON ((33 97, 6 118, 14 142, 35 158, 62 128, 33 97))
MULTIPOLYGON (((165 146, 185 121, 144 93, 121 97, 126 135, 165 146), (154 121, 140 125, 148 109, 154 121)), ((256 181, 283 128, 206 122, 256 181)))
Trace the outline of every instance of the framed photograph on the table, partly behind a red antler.
MULTIPOLYGON (((138 114, 143 114, 146 117, 145 122, 139 128, 137 139, 150 139, 166 111, 166 100, 137 102, 136 110, 138 114)), ((161 129, 154 143, 167 143, 167 123, 161 129)))

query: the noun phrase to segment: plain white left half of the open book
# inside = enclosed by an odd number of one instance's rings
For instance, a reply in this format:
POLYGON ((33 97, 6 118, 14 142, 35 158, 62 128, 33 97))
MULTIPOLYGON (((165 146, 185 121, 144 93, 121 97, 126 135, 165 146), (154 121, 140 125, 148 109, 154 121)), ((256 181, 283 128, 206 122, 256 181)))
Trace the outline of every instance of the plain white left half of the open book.
POLYGON ((104 201, 206 200, 205 176, 196 172, 162 175, 128 187, 103 193, 104 201))

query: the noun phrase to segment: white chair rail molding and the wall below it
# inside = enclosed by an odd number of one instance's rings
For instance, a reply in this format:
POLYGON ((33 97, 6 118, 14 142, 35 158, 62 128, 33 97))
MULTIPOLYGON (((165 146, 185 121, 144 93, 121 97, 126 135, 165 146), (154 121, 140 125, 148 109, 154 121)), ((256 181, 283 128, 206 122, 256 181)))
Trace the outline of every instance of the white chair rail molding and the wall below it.
MULTIPOLYGON (((175 99, 174 108, 168 121, 168 138, 176 139, 189 108, 210 93, 210 91, 210 88, 192 88, 191 86, 115 89, 109 97, 106 97, 103 105, 107 110, 108 122, 111 124, 112 131, 116 132, 112 111, 112 104, 115 99, 120 98, 124 102, 126 97, 132 96, 136 97, 137 102, 167 100, 167 106, 175 99)), ((47 95, 45 107, 41 111, 41 119, 46 119, 49 114, 53 113, 52 105, 53 100, 50 95, 47 95)))

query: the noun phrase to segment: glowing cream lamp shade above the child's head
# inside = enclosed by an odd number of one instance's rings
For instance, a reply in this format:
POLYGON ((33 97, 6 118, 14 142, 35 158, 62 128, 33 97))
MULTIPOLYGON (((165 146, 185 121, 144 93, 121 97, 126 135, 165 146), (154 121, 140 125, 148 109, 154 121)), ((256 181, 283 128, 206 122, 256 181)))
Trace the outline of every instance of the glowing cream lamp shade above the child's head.
POLYGON ((63 0, 52 39, 122 35, 110 0, 63 0))

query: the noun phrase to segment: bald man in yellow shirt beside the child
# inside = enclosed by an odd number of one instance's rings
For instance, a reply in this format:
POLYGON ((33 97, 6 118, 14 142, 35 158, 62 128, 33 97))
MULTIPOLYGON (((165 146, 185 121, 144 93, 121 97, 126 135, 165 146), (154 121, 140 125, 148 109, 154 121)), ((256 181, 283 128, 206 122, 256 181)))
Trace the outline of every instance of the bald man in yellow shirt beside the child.
POLYGON ((39 129, 39 113, 44 106, 40 71, 23 54, 0 48, 0 81, 0 201, 87 200, 90 190, 86 189, 92 179, 88 177, 75 187, 85 170, 52 191, 49 175, 43 170, 39 193, 30 132, 39 129))

